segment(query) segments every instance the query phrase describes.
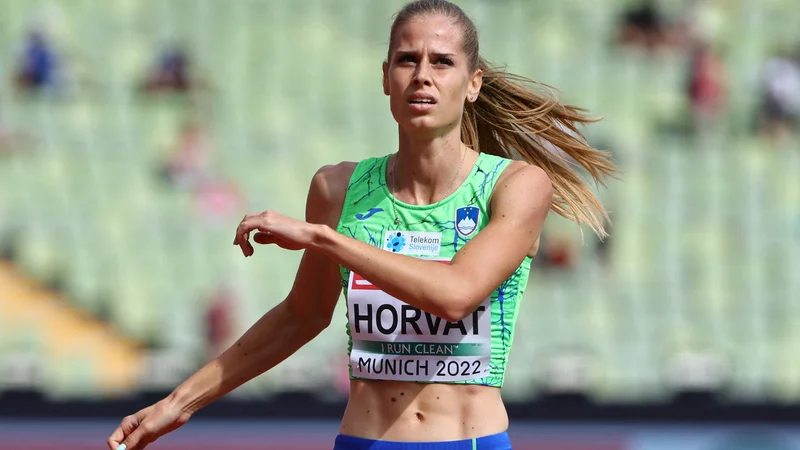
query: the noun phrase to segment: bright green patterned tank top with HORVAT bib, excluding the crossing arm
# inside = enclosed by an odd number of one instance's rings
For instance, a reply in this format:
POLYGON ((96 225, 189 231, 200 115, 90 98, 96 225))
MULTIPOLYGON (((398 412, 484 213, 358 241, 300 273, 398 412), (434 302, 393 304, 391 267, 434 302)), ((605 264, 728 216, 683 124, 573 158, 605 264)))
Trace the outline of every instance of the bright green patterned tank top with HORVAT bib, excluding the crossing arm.
MULTIPOLYGON (((438 207, 396 201, 400 221, 395 223, 386 186, 389 156, 358 164, 337 231, 386 251, 449 263, 489 223, 489 197, 511 160, 481 153, 469 176, 438 207)), ((350 378, 502 386, 530 263, 526 257, 459 322, 414 308, 340 267, 350 378)))

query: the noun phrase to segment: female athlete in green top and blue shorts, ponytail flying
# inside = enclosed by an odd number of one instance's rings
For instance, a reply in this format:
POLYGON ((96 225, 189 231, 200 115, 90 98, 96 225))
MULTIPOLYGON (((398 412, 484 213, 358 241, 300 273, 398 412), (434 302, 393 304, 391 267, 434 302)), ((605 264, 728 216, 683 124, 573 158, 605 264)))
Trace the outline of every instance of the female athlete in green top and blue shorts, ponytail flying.
POLYGON ((251 233, 304 251, 294 286, 225 353, 126 417, 110 449, 143 449, 292 355, 330 324, 343 287, 351 390, 336 450, 511 448, 500 387, 545 217, 605 236, 606 212, 571 165, 597 181, 615 171, 576 128, 592 120, 526 81, 479 56, 458 6, 407 4, 383 64, 398 151, 320 169, 304 221, 245 216, 234 238, 245 257, 251 233))

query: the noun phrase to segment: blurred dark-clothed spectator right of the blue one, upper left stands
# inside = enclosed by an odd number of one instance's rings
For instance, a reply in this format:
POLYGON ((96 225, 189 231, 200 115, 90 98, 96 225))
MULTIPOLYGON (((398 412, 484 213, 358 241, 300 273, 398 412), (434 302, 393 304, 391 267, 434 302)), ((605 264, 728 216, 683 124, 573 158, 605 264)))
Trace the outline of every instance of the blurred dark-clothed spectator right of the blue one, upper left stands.
POLYGON ((186 93, 201 86, 202 82, 193 74, 189 54, 179 47, 163 50, 142 83, 147 93, 186 93))

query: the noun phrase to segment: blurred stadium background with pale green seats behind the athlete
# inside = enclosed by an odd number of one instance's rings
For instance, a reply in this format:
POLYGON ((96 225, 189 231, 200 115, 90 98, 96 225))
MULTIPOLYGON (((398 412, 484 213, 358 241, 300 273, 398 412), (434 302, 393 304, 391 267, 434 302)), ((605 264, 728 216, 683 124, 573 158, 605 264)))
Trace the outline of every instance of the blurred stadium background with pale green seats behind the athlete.
MULTIPOLYGON (((284 298, 299 255, 245 261, 233 230, 395 150, 403 3, 0 2, 0 449, 101 448, 284 298)), ((606 242, 548 219, 504 388, 516 445, 800 448, 741 425, 800 420, 796 0, 458 3, 485 57, 604 117, 587 137, 624 171, 598 190, 606 242)), ((328 448, 344 324, 155 448, 328 448)))

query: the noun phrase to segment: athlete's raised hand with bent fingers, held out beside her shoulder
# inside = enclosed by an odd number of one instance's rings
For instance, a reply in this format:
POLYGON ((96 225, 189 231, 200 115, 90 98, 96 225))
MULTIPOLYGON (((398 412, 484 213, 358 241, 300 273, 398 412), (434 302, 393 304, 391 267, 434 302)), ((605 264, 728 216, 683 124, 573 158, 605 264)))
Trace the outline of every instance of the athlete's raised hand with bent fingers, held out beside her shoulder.
POLYGON ((236 228, 233 245, 238 245, 245 257, 252 256, 255 250, 250 244, 250 233, 257 230, 253 240, 258 244, 276 244, 287 250, 302 250, 314 243, 322 226, 292 219, 275 211, 248 214, 236 228))

